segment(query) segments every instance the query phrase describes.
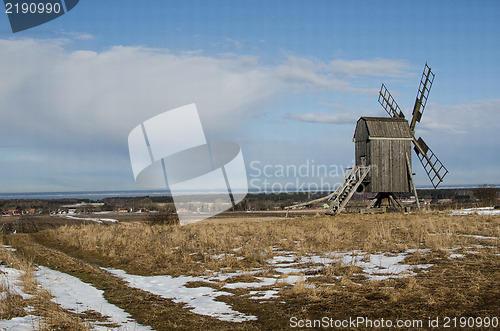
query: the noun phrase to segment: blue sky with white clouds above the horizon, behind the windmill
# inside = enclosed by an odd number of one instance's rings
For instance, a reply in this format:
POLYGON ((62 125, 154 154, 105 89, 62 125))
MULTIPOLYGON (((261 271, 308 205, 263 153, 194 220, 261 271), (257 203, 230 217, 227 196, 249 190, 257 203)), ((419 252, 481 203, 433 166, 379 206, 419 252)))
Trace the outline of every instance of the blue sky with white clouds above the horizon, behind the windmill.
POLYGON ((350 166, 356 120, 386 116, 381 83, 410 117, 426 62, 417 135, 445 184, 498 184, 498 17, 497 1, 81 0, 13 34, 0 15, 1 190, 136 189, 128 133, 193 102, 209 139, 240 144, 251 179, 350 166))

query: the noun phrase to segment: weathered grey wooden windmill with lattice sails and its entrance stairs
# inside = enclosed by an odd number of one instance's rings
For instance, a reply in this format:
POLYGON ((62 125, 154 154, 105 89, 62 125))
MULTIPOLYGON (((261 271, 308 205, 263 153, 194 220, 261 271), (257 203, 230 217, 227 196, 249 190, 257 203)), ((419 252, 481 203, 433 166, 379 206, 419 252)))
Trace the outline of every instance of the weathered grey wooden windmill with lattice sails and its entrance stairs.
POLYGON ((356 190, 377 193, 369 207, 392 205, 395 208, 402 208, 402 205, 394 193, 413 191, 420 208, 413 181, 411 146, 413 145, 434 188, 448 173, 424 140, 421 137, 415 138, 415 125, 422 119, 433 81, 434 74, 426 63, 411 122, 405 119, 398 104, 382 84, 378 100, 390 117, 361 117, 358 120, 353 139, 356 166, 346 175, 344 184, 328 196, 287 209, 326 202, 329 206, 327 213, 335 215, 344 209, 356 190))

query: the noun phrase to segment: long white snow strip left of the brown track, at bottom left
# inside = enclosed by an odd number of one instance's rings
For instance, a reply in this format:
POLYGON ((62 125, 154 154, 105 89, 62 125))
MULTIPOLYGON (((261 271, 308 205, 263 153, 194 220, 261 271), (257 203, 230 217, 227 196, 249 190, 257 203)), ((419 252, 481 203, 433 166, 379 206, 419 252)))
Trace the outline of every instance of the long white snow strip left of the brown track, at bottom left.
MULTIPOLYGON (((64 309, 73 312, 84 312, 93 310, 108 316, 110 323, 119 324, 123 329, 129 330, 152 330, 132 319, 123 309, 110 304, 104 299, 103 291, 96 289, 88 283, 63 272, 39 266, 35 271, 35 277, 43 288, 50 291, 55 297, 52 300, 64 309)), ((108 330, 102 325, 93 325, 97 330, 108 330)))

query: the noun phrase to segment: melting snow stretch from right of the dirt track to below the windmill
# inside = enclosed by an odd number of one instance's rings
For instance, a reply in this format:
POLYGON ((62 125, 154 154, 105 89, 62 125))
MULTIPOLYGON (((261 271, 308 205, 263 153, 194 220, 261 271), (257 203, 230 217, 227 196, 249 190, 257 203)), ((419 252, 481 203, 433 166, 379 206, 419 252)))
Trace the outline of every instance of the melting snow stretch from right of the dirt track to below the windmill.
MULTIPOLYGON (((421 252, 427 250, 420 250, 421 252)), ((123 270, 103 268, 111 274, 124 279, 130 286, 159 295, 163 298, 172 299, 177 303, 185 303, 192 312, 215 317, 223 321, 243 322, 255 320, 257 317, 242 314, 235 311, 225 302, 215 300, 219 296, 233 295, 224 289, 249 289, 248 298, 255 300, 268 300, 278 297, 280 287, 295 285, 305 282, 310 277, 315 277, 317 272, 328 265, 342 263, 344 265, 355 265, 362 268, 361 275, 368 279, 383 280, 387 278, 407 277, 414 275, 414 270, 425 269, 432 264, 409 265, 403 261, 416 250, 407 250, 399 254, 367 254, 361 251, 350 251, 344 253, 332 253, 327 257, 308 255, 298 257, 295 252, 285 252, 275 249, 276 256, 267 261, 274 274, 267 277, 258 276, 263 269, 255 269, 245 272, 218 273, 213 276, 137 276, 127 274, 123 270), (242 275, 252 276, 247 282, 226 282, 223 290, 211 287, 187 287, 188 283, 205 282, 219 284, 230 278, 242 275)), ((303 284, 304 287, 314 287, 314 284, 303 284)))

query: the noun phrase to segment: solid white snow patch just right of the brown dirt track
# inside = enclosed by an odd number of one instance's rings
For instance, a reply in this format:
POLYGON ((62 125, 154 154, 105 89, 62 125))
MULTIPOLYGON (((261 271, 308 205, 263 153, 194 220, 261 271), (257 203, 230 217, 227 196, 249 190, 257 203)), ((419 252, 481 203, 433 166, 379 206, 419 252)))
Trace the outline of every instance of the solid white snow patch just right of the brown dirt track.
POLYGON ((244 322, 256 320, 256 316, 245 315, 233 310, 225 302, 215 301, 221 295, 233 295, 229 292, 217 291, 210 287, 193 287, 185 285, 190 282, 206 281, 203 277, 180 276, 136 276, 127 274, 123 270, 103 268, 109 273, 128 282, 130 286, 172 299, 177 303, 185 303, 193 308, 192 312, 200 315, 215 317, 221 321, 244 322))

